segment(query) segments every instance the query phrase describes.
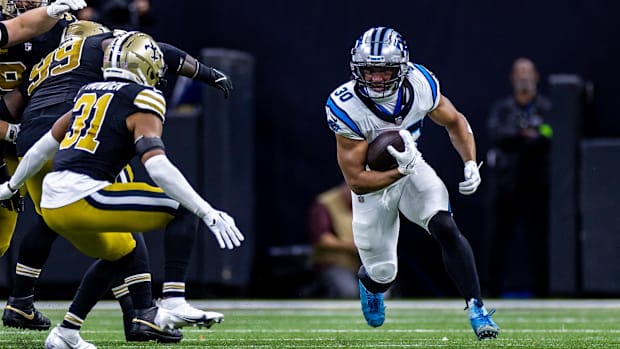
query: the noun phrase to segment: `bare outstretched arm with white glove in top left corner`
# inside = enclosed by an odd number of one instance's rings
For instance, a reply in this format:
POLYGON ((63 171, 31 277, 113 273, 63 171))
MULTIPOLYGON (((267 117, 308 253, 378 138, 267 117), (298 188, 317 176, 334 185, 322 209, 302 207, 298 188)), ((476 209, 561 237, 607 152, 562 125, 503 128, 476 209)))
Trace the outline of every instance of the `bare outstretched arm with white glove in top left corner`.
POLYGON ((0 47, 24 42, 52 29, 65 13, 86 7, 84 0, 56 0, 49 6, 35 8, 3 21, 6 30, 0 28, 0 47))

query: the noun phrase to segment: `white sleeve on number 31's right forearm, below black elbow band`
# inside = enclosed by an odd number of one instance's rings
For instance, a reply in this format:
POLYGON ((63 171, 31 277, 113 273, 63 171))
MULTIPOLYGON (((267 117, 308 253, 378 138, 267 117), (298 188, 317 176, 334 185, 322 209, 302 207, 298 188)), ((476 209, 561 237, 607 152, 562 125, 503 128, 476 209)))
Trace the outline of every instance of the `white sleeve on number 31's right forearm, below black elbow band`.
POLYGON ((183 207, 202 218, 213 210, 185 179, 185 176, 164 154, 155 155, 144 162, 144 168, 153 182, 164 190, 166 195, 178 201, 183 207))

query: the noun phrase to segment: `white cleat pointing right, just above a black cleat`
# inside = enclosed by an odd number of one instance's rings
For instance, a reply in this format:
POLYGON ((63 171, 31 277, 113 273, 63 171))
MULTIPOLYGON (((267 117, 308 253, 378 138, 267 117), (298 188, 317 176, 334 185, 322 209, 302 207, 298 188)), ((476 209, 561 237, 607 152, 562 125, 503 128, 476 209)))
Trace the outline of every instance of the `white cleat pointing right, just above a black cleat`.
POLYGON ((182 328, 192 325, 210 328, 224 320, 224 314, 196 309, 183 297, 158 299, 155 304, 160 309, 155 322, 162 327, 182 328))

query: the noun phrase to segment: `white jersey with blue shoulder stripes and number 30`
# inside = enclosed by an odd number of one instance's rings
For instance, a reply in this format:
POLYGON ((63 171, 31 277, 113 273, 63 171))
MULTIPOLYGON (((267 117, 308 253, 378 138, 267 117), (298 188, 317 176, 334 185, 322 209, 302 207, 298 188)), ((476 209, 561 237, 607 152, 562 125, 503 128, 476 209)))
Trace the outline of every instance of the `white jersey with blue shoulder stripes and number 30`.
POLYGON ((421 132, 422 120, 439 104, 439 81, 425 67, 411 62, 406 79, 412 86, 413 96, 402 96, 407 94, 403 83, 400 91, 392 98, 378 103, 379 108, 389 110, 390 114, 395 108, 401 109, 404 102, 413 99, 409 111, 398 118, 381 118, 366 106, 355 92, 355 80, 340 85, 329 95, 325 106, 329 127, 336 134, 350 139, 366 140, 368 143, 388 130, 408 129, 411 133, 421 132))

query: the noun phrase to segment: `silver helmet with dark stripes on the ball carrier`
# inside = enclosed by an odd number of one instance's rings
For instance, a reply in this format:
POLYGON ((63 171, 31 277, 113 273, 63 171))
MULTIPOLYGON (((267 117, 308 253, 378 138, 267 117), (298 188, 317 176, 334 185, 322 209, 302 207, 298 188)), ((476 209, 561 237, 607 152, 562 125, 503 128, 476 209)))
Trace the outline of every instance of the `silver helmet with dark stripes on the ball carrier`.
POLYGON ((407 43, 396 30, 387 27, 368 29, 351 49, 353 77, 360 91, 372 98, 394 94, 407 75, 408 62, 407 43), (387 81, 369 81, 373 71, 391 72, 391 76, 387 81))

